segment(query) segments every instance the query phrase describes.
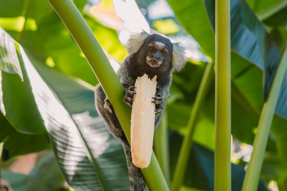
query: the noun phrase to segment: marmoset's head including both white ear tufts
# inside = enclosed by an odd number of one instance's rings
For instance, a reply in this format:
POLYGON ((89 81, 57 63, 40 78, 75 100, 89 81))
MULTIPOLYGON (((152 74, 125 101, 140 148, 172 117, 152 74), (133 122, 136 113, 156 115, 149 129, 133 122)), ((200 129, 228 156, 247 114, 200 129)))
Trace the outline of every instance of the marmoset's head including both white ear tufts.
POLYGON ((179 71, 185 65, 185 49, 159 34, 149 35, 146 31, 135 33, 129 38, 127 50, 130 54, 136 53, 141 62, 152 68, 179 71))

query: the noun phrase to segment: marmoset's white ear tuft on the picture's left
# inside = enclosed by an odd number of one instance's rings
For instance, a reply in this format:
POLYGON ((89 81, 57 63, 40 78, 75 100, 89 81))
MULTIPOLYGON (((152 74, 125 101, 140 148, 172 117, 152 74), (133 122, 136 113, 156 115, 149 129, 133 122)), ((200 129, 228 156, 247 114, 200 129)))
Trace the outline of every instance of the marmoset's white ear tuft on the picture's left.
POLYGON ((141 48, 141 45, 144 44, 144 41, 148 36, 150 35, 144 30, 141 33, 131 34, 127 42, 127 51, 129 54, 136 53, 141 48))

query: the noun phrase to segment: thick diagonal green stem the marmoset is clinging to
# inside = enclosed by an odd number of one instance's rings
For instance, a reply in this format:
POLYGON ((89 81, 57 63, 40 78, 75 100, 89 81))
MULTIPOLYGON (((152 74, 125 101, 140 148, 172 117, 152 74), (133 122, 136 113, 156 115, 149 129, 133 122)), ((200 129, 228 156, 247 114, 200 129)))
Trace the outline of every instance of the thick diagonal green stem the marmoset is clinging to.
MULTIPOLYGON (((82 50, 110 101, 130 142, 131 108, 123 103, 124 90, 90 27, 71 0, 48 0, 82 50)), ((150 166, 141 169, 150 191, 169 190, 154 152, 150 166)))

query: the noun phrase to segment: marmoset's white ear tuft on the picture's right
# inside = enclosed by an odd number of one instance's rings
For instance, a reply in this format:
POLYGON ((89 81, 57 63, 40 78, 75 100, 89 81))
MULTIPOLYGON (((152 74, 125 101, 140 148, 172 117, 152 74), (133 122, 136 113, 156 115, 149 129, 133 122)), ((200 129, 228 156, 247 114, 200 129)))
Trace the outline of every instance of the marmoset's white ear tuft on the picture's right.
POLYGON ((171 64, 174 71, 180 71, 185 66, 185 48, 179 42, 172 43, 171 64))

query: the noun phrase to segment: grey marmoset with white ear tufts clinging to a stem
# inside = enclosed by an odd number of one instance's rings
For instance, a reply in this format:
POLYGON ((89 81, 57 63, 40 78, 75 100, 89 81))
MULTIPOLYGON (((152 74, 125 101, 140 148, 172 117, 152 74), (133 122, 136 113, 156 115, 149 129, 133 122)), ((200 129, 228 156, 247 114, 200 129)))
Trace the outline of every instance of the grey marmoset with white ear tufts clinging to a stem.
MULTIPOLYGON (((157 75, 156 95, 154 96, 156 128, 165 108, 165 98, 169 94, 172 72, 185 65, 185 49, 179 43, 158 34, 149 35, 146 31, 134 33, 127 43, 128 55, 117 75, 125 90, 124 102, 132 107, 135 80, 147 74, 149 78, 157 75)), ((123 129, 100 84, 95 91, 96 109, 110 133, 121 140, 129 169, 131 191, 144 191, 146 184, 139 168, 133 165, 131 147, 123 129)), ((148 119, 147 119, 148 120, 148 119)))

